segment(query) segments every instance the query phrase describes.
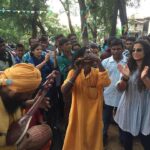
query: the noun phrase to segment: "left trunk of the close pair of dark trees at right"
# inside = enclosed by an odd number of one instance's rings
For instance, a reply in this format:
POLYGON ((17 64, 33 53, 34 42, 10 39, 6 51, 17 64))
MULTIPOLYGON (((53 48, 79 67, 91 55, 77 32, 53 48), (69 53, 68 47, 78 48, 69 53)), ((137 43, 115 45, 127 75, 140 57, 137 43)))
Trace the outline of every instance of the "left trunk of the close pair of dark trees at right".
POLYGON ((111 21, 111 36, 116 35, 116 24, 117 24, 117 15, 118 15, 118 2, 119 0, 114 1, 114 8, 112 13, 112 21, 111 21))

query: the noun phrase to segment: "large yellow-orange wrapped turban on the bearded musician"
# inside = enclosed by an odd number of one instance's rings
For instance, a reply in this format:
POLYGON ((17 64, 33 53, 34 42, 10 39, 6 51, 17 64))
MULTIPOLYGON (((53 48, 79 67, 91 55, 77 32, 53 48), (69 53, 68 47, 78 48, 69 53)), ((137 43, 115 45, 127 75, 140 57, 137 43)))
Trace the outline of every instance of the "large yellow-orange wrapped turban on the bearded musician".
POLYGON ((20 63, 6 69, 0 74, 0 79, 10 79, 9 89, 19 93, 30 92, 41 83, 41 73, 32 64, 20 63))

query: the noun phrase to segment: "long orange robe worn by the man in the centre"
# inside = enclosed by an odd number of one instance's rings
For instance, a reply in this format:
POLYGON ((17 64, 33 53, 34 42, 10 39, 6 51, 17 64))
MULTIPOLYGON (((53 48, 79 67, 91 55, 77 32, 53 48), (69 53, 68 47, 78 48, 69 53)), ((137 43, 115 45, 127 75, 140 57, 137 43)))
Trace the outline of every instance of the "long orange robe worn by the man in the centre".
MULTIPOLYGON (((72 77, 68 74, 66 82, 72 77)), ((72 89, 72 104, 63 150, 103 150, 103 88, 110 84, 107 71, 92 68, 78 75, 72 89)))

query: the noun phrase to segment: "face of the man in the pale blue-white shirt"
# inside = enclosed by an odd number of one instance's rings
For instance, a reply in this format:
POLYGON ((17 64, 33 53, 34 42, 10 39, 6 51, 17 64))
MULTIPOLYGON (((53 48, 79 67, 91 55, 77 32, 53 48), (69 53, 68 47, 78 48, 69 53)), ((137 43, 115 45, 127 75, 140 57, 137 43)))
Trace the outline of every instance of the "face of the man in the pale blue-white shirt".
POLYGON ((113 55, 114 59, 118 59, 122 56, 123 47, 122 45, 114 45, 111 47, 111 54, 113 55))

